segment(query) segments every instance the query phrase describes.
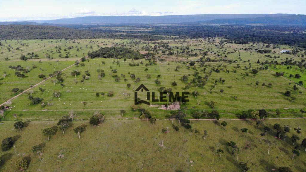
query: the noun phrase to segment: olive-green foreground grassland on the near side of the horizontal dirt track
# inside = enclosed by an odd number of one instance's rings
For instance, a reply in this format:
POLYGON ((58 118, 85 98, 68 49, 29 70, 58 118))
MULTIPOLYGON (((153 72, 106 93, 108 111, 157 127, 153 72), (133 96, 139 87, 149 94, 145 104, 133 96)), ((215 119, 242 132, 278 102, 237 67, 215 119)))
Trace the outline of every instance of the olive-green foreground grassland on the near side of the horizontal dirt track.
MULTIPOLYGON (((107 116, 108 117, 108 116, 107 116)), ((221 121, 219 121, 221 122, 221 121)), ((239 162, 246 162, 249 171, 273 171, 280 166, 290 167, 293 171, 304 171, 306 153, 302 148, 301 155, 292 159, 291 136, 296 134, 293 128, 302 128, 300 144, 305 137, 305 119, 265 120, 259 126, 255 121, 227 121, 226 130, 219 122, 192 121, 193 129, 200 133, 187 131, 178 122, 179 131, 174 131, 172 122, 158 120, 155 125, 140 120, 107 120, 102 125, 91 126, 88 121, 73 122, 65 134, 61 130, 51 136, 42 135, 42 130, 56 125, 55 121, 28 121, 27 126, 19 131, 14 129, 14 122, 0 125, 0 140, 13 137, 14 147, 0 153, 3 163, 1 171, 17 171, 17 159, 25 157, 29 166, 27 171, 243 171, 239 162), (286 140, 274 138, 273 124, 291 126, 286 140), (73 132, 76 126, 87 125, 80 139, 73 132), (270 147, 260 140, 263 127, 268 132, 264 139, 275 144, 270 147), (169 133, 161 129, 169 127, 169 133), (241 128, 247 128, 244 137, 241 128), (204 140, 203 130, 208 132, 204 140), (163 141, 163 146, 159 145, 163 141), (239 147, 234 155, 230 154, 226 142, 234 141, 239 147), (42 161, 32 152, 34 145, 42 145, 42 161), (16 149, 16 153, 15 153, 16 149), (224 150, 221 157, 217 149, 224 150), (239 154, 239 155, 238 155, 239 154), (238 156, 238 161, 237 161, 238 156)))

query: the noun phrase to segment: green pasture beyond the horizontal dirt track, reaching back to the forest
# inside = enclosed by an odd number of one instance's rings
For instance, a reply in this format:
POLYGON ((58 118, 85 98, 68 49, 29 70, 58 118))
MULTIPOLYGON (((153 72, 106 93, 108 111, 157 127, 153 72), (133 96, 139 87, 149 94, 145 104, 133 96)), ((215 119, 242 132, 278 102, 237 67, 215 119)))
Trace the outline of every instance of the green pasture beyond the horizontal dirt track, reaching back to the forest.
MULTIPOLYGON (((134 92, 133 88, 137 88, 140 84, 144 84, 149 90, 157 91, 159 87, 172 88, 173 91, 182 92, 183 87, 185 87, 186 83, 182 82, 180 79, 183 75, 189 75, 188 81, 192 80, 193 74, 195 72, 199 72, 199 75, 204 77, 208 75, 209 71, 213 71, 213 69, 218 68, 220 72, 217 73, 215 71, 212 72, 211 76, 207 79, 207 84, 204 88, 196 88, 191 87, 188 89, 188 92, 192 93, 193 91, 198 91, 199 95, 194 97, 189 95, 190 102, 187 106, 187 114, 188 117, 191 118, 191 114, 195 110, 212 110, 212 108, 208 105, 210 101, 217 102, 215 107, 221 113, 223 118, 237 118, 241 114, 241 111, 248 109, 267 109, 270 113, 271 117, 275 116, 275 110, 279 109, 282 111, 280 117, 303 117, 304 115, 300 113, 300 109, 304 108, 306 105, 305 99, 305 88, 298 86, 299 92, 293 91, 293 85, 289 85, 288 80, 285 78, 290 73, 299 73, 297 71, 297 67, 290 69, 287 71, 284 77, 276 77, 275 72, 276 69, 273 66, 269 66, 267 70, 259 70, 259 73, 253 74, 251 69, 256 69, 261 67, 260 64, 256 63, 259 59, 260 62, 264 62, 266 60, 270 61, 271 59, 263 56, 263 54, 254 52, 254 51, 246 51, 243 50, 245 47, 260 47, 258 44, 228 44, 223 47, 216 47, 219 39, 215 40, 215 42, 211 43, 207 40, 201 39, 188 39, 188 40, 176 40, 169 41, 169 45, 173 51, 180 50, 180 47, 190 47, 190 49, 194 49, 198 54, 201 51, 198 48, 202 48, 204 50, 210 49, 208 51, 209 58, 212 59, 222 59, 217 56, 215 53, 219 54, 220 52, 229 52, 236 50, 234 53, 228 54, 228 59, 237 60, 234 63, 226 63, 226 62, 206 62, 204 66, 199 66, 199 63, 195 65, 195 69, 188 69, 186 59, 199 59, 198 57, 190 57, 186 56, 186 54, 181 54, 178 57, 169 57, 165 53, 162 53, 164 48, 160 47, 160 49, 156 50, 157 55, 161 53, 158 59, 164 59, 157 62, 156 65, 145 66, 147 61, 145 59, 135 60, 135 63, 144 62, 144 64, 140 64, 139 66, 129 66, 131 63, 130 59, 127 59, 124 62, 122 59, 103 59, 96 58, 90 59, 89 62, 84 62, 85 66, 73 66, 69 69, 65 70, 62 74, 62 77, 65 79, 63 84, 65 84, 64 88, 60 84, 53 84, 53 78, 47 80, 43 84, 33 88, 34 93, 32 94, 34 97, 43 98, 45 103, 53 104, 51 106, 40 107, 40 105, 32 105, 31 101, 28 100, 28 94, 23 94, 20 97, 14 99, 11 104, 11 108, 6 110, 5 120, 12 120, 13 114, 17 114, 19 118, 25 119, 58 119, 63 115, 67 114, 70 110, 75 110, 79 113, 78 118, 88 118, 95 110, 100 110, 105 114, 111 115, 115 118, 120 117, 120 110, 124 109, 127 113, 124 117, 138 117, 139 113, 132 111, 131 106, 134 104, 134 92), (223 50, 222 50, 223 49, 223 50), (113 61, 119 61, 119 65, 113 61), (250 60, 250 62, 248 62, 250 60), (102 61, 105 64, 102 64, 102 61), (250 68, 250 64, 251 68, 250 68), (240 68, 237 68, 237 64, 240 65, 240 68), (174 69, 180 66, 179 71, 175 71, 174 69), (145 71, 145 68, 148 71, 145 71), (205 72, 201 71, 201 69, 206 68, 205 72), (246 69, 247 68, 247 69, 246 69), (105 71, 106 76, 102 78, 102 80, 98 79, 97 69, 103 69, 105 71), (128 79, 127 82, 124 81, 124 78, 121 77, 119 82, 115 82, 115 79, 111 77, 111 70, 117 69, 117 75, 120 77, 121 74, 125 75, 125 78, 128 79), (78 70, 81 72, 78 76, 71 76, 70 73, 73 70, 78 70), (226 72, 226 70, 229 71, 226 72), (294 71, 296 70, 296 71, 294 71), (90 73, 90 79, 85 80, 83 83, 80 82, 82 79, 82 75, 85 74, 85 71, 90 73), (236 72, 234 72, 236 71, 236 72), (134 80, 132 80, 129 75, 133 73, 136 77, 140 77, 140 82, 138 84, 134 84, 134 80), (248 73, 248 76, 246 75, 248 73), (150 74, 151 79, 147 79, 146 75, 150 74), (160 78, 157 78, 158 75, 161 75, 160 78), (219 79, 222 78, 225 82, 222 84, 219 79), (161 84, 155 84, 155 80, 158 79, 161 84), (75 83, 75 80, 78 83, 75 83), (214 88, 215 80, 217 80, 217 84, 214 88), (177 86, 172 87, 171 82, 176 81, 177 86), (259 82, 259 85, 256 86, 256 81, 259 82), (127 88, 126 84, 131 84, 131 88, 127 88), (262 84, 266 85, 262 87, 262 84), (272 87, 268 87, 268 83, 272 84, 272 87), (39 87, 45 89, 45 92, 40 92, 39 87), (212 91, 210 89, 212 88, 212 91), (221 94, 220 90, 224 90, 221 94), (283 95, 285 91, 291 91, 292 96, 296 98, 296 100, 291 101, 290 97, 286 97, 283 95), (61 96, 58 98, 53 97, 54 91, 60 91, 61 96), (109 91, 114 92, 114 96, 108 97, 106 95, 96 97, 96 92, 104 92, 107 93, 109 91), (131 96, 127 99, 123 95, 124 93, 129 93, 131 96), (237 96, 235 99, 234 97, 237 96), (84 106, 83 102, 87 104, 84 106), (54 113, 56 111, 56 113, 54 113)), ((106 46, 116 46, 116 43, 126 43, 129 47, 135 50, 146 50, 145 42, 135 43, 135 40, 120 40, 120 39, 81 39, 81 40, 22 40, 17 43, 16 40, 7 41, 6 44, 10 44, 17 46, 20 43, 28 43, 25 44, 23 54, 27 52, 31 52, 32 50, 36 50, 34 54, 39 54, 39 59, 28 60, 27 62, 17 60, 17 52, 14 52, 15 55, 12 57, 14 59, 9 61, 2 61, 0 65, 0 69, 2 73, 6 72, 7 76, 1 78, 1 85, 4 94, 1 94, 0 98, 3 100, 7 100, 10 97, 13 97, 15 94, 10 92, 10 90, 14 87, 19 89, 29 88, 31 85, 35 83, 39 83, 42 78, 39 78, 38 75, 43 73, 48 76, 48 74, 52 73, 54 70, 61 70, 65 67, 74 63, 75 60, 87 54, 88 51, 98 49, 97 44, 100 44, 101 47, 106 46), (51 42, 52 41, 52 42, 51 42), (87 45, 87 49, 85 48, 87 45), (90 49, 90 46, 92 48, 90 49), (35 47, 32 49, 32 47, 35 47), (62 46, 62 50, 64 47, 72 47, 71 50, 68 50, 70 55, 69 58, 61 58, 56 59, 55 47, 62 46), (79 48, 79 51, 76 51, 76 48, 79 48), (83 47, 80 49, 80 47, 83 47), (48 50, 48 54, 51 54, 51 57, 55 59, 46 59, 44 57, 44 53, 48 50), (85 53, 86 52, 86 53, 85 53), (76 56, 77 54, 77 56, 76 56), (41 60, 41 62, 38 62, 41 60), (59 62, 57 60, 60 60, 59 62), (14 62, 12 62, 14 61, 14 62), (26 73, 25 78, 19 79, 14 75, 13 69, 9 69, 8 66, 16 66, 21 65, 22 67, 31 69, 30 72, 26 73), (37 68, 32 69, 32 66, 36 65, 37 68)), ((167 41, 165 41, 167 42, 167 41)), ((148 43, 149 46, 154 46, 155 44, 148 43)), ((158 44, 160 45, 160 43, 158 44)), ((4 50, 5 46, 2 46, 2 50, 4 50)), ((285 47, 282 47, 285 49, 285 47)), ((287 47, 288 48, 288 47, 287 47)), ((189 50, 190 50, 189 49, 189 50)), ((266 48, 267 49, 267 48, 266 48)), ((271 49, 271 48, 270 48, 271 49)), ((13 50, 3 53, 1 58, 8 57, 8 54, 12 54, 13 50)), ((16 50, 15 50, 16 51, 16 50)), ((18 50, 20 51, 20 50, 18 50)), ((278 50, 277 50, 278 51, 278 50)), ((222 53, 223 54, 223 53, 222 53)), ((273 55, 274 53, 271 53, 273 55)), ((280 54, 281 56, 277 60, 281 61, 286 57, 291 57, 296 60, 301 59, 300 57, 289 55, 289 54, 280 54)), ((64 55, 64 54, 63 54, 64 55)), ((281 66, 278 65, 278 68, 281 66)), ((282 69, 278 69, 282 70, 282 69)), ((286 69, 287 70, 287 69, 286 69)), ((305 74, 300 73, 301 78, 299 80, 305 79, 305 74)), ((294 79, 294 78, 291 78, 294 79)), ((295 80, 298 82, 298 80, 295 80)), ((142 105, 142 107, 148 109, 154 116, 157 118, 163 118, 165 114, 169 114, 169 111, 159 110, 156 107, 147 107, 146 105, 142 105)))

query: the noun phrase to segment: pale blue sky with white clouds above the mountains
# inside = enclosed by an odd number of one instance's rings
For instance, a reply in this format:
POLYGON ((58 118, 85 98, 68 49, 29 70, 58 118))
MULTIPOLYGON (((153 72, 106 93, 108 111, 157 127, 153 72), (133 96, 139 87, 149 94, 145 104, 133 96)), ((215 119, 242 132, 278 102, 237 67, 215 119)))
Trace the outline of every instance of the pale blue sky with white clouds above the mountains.
POLYGON ((306 14, 306 0, 0 0, 0 21, 83 16, 306 14))

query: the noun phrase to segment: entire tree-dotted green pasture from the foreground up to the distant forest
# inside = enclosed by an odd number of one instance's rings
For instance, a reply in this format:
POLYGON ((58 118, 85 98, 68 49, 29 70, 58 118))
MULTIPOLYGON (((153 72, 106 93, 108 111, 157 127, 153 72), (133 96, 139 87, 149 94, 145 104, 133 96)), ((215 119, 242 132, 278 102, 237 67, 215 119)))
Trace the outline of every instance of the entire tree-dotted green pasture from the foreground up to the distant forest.
MULTIPOLYGON (((301 149, 300 156, 292 159, 294 146, 291 136, 297 134, 294 131, 296 127, 301 127, 302 132, 300 140, 295 145, 301 144, 306 136, 306 119, 301 118, 305 117, 305 114, 300 111, 306 106, 306 74, 296 65, 287 69, 287 66, 282 65, 276 65, 274 68, 274 65, 261 64, 266 61, 281 63, 285 59, 301 61, 304 50, 295 55, 282 54, 279 51, 293 50, 295 47, 277 45, 276 49, 272 49, 272 45, 269 48, 265 46, 262 43, 223 44, 221 38, 169 39, 155 42, 137 39, 2 41, 1 103, 18 94, 11 91, 13 88, 25 90, 43 81, 43 78, 38 77, 39 74, 48 77, 54 71, 72 66, 61 74, 64 79, 63 85, 52 82, 56 78, 51 77, 32 88, 32 92, 26 92, 6 104, 10 107, 4 111, 4 118, 1 118, 3 124, 0 125, 0 140, 13 137, 15 147, 0 153, 3 159, 0 171, 18 171, 16 161, 21 157, 28 161, 27 171, 242 171, 239 162, 247 163, 249 171, 275 171, 281 166, 288 166, 293 171, 305 171, 304 149, 301 149), (99 47, 126 47, 140 53, 151 52, 157 62, 146 66, 148 61, 144 58, 126 61, 114 58, 88 58, 88 52, 98 50, 99 47), (272 52, 261 54, 257 53, 256 49, 268 49, 272 52), (173 52, 174 54, 168 55, 173 52), (195 53, 197 55, 194 55, 195 53), (38 57, 27 61, 19 59, 21 55, 29 58, 31 54, 34 58, 38 57), (60 58, 59 55, 68 58, 60 58), (202 56, 211 60, 203 64, 197 62, 202 56), (81 62, 84 65, 73 65, 82 57, 88 58, 81 62), (196 64, 192 66, 189 65, 190 62, 196 64), (130 66, 129 63, 139 65, 130 66), (9 68, 17 65, 29 70, 24 73, 26 77, 18 78, 15 76, 16 71, 9 68), (268 66, 268 69, 259 69, 265 66, 268 66), (179 69, 175 70, 176 68, 179 69), (102 79, 98 77, 98 69, 105 72, 102 79), (117 69, 119 81, 112 77, 113 69, 117 69), (258 73, 254 74, 252 69, 257 69, 258 73), (79 71, 80 75, 71 75, 74 70, 79 71), (276 72, 285 74, 283 77, 277 77, 276 72), (297 73, 301 75, 299 79, 289 77, 290 74, 297 73), (135 74, 140 81, 134 83, 135 80, 130 74, 135 74), (151 78, 146 77, 148 74, 151 78), (90 77, 83 79, 83 75, 90 77), (131 108, 134 105, 133 90, 144 84, 151 92, 159 92, 160 87, 172 88, 173 92, 183 92, 186 91, 183 88, 188 84, 181 80, 183 75, 188 76, 188 82, 196 75, 207 77, 203 88, 191 84, 192 86, 187 89, 190 93, 189 102, 181 104, 181 107, 187 108, 187 118, 193 118, 192 114, 197 110, 217 110, 221 118, 230 118, 226 119, 226 130, 221 125, 223 120, 216 123, 208 120, 191 120, 192 129, 189 130, 174 121, 174 125, 179 126, 179 131, 175 131, 172 122, 165 119, 170 110, 148 107, 145 104, 141 104, 139 108, 148 110, 152 116, 158 118, 156 124, 134 119, 140 116, 140 112, 131 108), (156 79, 160 84, 155 84, 156 79), (304 85, 298 85, 300 80, 304 85), (171 85, 174 81, 177 86, 171 85), (268 83, 272 85, 268 86, 268 83), (127 84, 131 84, 131 87, 127 88, 127 84), (293 90, 293 85, 299 88, 297 92, 293 90), (41 92, 39 88, 43 88, 44 91, 41 92), (56 91, 60 92, 59 97, 54 97, 53 93, 56 91), (109 91, 114 92, 114 95, 107 96, 109 91), (199 95, 192 95, 194 91, 199 95), (286 91, 290 91, 291 96, 285 96, 286 91), (103 92, 105 95, 96 96, 97 92, 103 92), (129 96, 126 96, 128 94, 129 96), (28 99, 29 95, 43 98, 43 102, 49 105, 34 105, 28 99), (209 105, 211 101, 216 102, 214 108, 209 105), (254 120, 237 120, 243 111, 260 109, 267 110, 268 118, 301 119, 264 120, 259 129, 254 120), (71 110, 77 114, 73 126, 67 129, 65 134, 58 130, 48 141, 47 137, 42 135, 42 130, 56 125, 57 120, 71 110), (120 110, 125 110, 126 113, 121 116, 120 110), (276 110, 280 110, 281 114, 276 115, 276 110), (102 125, 89 125, 88 119, 95 111, 100 111, 106 116, 106 121, 102 125), (21 131, 13 127, 14 114, 17 115, 17 120, 26 123, 26 127, 21 131), (280 124, 282 128, 285 125, 290 126, 285 140, 274 137, 274 123, 280 124), (87 125, 86 131, 79 139, 73 128, 83 124, 87 125), (259 142, 264 126, 272 129, 264 136, 264 139, 275 143, 271 145, 270 154, 268 145, 264 144, 264 141, 259 142), (169 133, 162 133, 162 129, 167 127, 169 133), (240 130, 242 128, 248 129, 245 137, 240 130), (196 133, 195 129, 200 133, 196 133), (202 138, 204 130, 208 132, 205 140, 202 138), (226 146, 226 142, 229 141, 236 142, 239 147, 239 151, 234 155, 230 154, 226 146), (43 147, 42 161, 32 151, 32 147, 38 144, 43 147), (221 157, 217 153, 218 149, 224 150, 221 157)), ((145 99, 145 92, 139 95, 141 99, 145 99)), ((150 103, 153 104, 151 101, 150 103)))

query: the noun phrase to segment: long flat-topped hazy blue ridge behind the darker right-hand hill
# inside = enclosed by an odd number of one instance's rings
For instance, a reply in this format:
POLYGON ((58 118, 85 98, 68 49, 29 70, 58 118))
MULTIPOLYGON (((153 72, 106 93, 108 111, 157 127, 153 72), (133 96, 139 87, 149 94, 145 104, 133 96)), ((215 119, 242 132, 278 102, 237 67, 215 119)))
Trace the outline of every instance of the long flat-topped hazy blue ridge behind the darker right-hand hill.
POLYGON ((215 19, 280 17, 293 14, 200 14, 168 16, 96 16, 63 18, 57 20, 32 20, 36 23, 51 24, 174 24, 182 22, 208 21, 215 19))

